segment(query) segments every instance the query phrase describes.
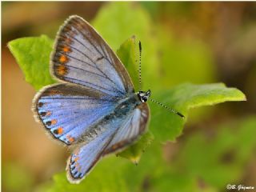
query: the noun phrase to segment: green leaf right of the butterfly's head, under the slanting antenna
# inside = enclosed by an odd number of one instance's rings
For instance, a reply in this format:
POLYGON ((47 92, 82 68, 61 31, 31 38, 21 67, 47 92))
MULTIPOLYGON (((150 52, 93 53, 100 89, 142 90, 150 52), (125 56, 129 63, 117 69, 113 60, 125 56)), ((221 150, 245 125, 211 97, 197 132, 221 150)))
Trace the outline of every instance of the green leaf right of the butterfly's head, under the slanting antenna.
POLYGON ((240 90, 227 88, 223 83, 206 85, 186 83, 175 86, 170 90, 159 91, 156 94, 153 93, 153 95, 158 101, 178 110, 186 117, 182 119, 161 106, 150 103, 152 114, 150 130, 160 142, 174 140, 182 134, 183 126, 191 108, 210 106, 220 102, 246 100, 246 96, 240 90))

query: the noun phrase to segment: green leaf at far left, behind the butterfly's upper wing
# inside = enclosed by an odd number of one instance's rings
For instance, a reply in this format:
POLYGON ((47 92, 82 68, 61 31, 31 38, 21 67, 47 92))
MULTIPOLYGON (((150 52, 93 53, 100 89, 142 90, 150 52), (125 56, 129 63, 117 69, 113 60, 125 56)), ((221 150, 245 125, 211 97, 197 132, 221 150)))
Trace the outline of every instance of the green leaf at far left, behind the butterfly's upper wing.
POLYGON ((53 40, 46 35, 36 38, 18 38, 8 43, 11 53, 21 67, 26 82, 39 90, 55 82, 50 76, 49 62, 53 40))

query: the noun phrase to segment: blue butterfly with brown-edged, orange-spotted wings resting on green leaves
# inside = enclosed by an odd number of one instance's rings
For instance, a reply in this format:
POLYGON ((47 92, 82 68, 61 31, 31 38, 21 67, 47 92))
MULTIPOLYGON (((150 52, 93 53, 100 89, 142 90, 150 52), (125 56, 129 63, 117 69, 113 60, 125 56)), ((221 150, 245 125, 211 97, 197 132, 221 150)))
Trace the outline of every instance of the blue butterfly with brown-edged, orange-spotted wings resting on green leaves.
POLYGON ((78 183, 100 158, 125 149, 146 131, 150 90, 134 91, 117 55, 77 15, 58 31, 50 72, 59 83, 35 95, 34 116, 73 151, 66 174, 71 183, 78 183))

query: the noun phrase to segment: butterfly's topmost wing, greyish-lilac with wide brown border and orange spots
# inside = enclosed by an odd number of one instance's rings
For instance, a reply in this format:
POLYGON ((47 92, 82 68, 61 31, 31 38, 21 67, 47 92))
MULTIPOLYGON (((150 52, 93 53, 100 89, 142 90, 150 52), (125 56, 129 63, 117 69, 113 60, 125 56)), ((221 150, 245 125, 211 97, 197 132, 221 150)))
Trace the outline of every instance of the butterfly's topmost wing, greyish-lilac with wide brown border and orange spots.
POLYGON ((78 16, 68 18, 59 30, 51 62, 54 76, 65 82, 116 97, 134 92, 130 76, 114 51, 78 16))

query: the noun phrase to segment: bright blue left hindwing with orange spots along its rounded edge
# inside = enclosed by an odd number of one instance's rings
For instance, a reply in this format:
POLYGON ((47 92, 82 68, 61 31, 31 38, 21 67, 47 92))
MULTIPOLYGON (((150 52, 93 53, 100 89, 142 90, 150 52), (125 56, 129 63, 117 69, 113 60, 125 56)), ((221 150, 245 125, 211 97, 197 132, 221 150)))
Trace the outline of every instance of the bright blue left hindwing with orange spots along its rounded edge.
POLYGON ((54 138, 66 145, 114 110, 115 98, 83 86, 48 86, 34 98, 34 114, 54 138))

